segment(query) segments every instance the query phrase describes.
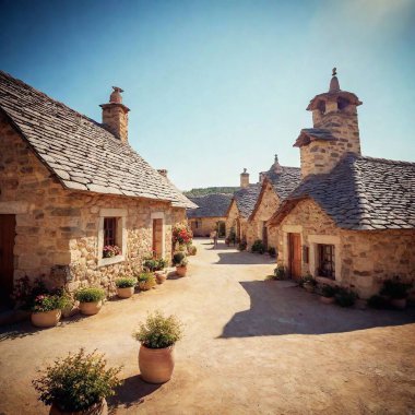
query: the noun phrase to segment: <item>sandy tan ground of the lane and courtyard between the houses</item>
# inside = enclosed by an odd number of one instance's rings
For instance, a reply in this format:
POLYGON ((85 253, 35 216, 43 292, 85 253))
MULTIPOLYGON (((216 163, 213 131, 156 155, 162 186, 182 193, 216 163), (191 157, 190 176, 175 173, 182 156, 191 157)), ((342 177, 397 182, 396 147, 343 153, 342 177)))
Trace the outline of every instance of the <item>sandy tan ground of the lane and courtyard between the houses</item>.
POLYGON ((48 330, 0 331, 0 414, 47 414, 31 380, 84 346, 123 365, 114 414, 415 414, 415 310, 342 309, 290 282, 264 282, 265 256, 197 241, 189 276, 108 301, 48 330), (131 333, 147 311, 177 315, 186 336, 173 379, 139 377, 131 333))

